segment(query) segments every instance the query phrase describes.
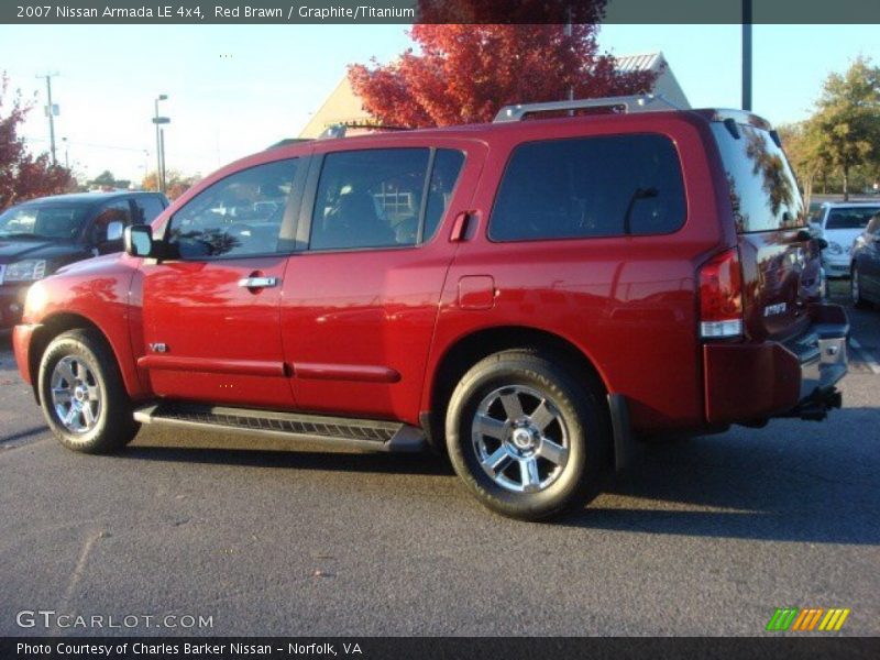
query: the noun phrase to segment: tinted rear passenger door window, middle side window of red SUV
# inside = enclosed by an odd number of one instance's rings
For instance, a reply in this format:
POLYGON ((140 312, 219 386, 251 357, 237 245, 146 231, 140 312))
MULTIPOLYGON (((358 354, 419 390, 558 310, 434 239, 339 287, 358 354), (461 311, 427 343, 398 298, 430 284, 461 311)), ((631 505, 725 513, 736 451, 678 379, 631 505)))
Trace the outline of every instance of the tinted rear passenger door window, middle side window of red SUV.
POLYGON ((429 148, 328 154, 309 248, 394 248, 429 240, 449 207, 463 162, 461 152, 442 148, 433 157, 429 148))

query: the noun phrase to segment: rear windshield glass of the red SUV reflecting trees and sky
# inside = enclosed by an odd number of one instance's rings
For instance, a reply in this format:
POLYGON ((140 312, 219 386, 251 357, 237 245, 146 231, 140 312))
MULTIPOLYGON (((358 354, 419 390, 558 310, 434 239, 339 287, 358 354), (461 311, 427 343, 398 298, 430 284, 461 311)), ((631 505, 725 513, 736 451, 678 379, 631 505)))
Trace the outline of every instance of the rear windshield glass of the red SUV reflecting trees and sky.
POLYGON ((712 123, 737 232, 803 227, 804 205, 785 154, 769 132, 746 124, 737 129, 738 138, 724 123, 712 123))

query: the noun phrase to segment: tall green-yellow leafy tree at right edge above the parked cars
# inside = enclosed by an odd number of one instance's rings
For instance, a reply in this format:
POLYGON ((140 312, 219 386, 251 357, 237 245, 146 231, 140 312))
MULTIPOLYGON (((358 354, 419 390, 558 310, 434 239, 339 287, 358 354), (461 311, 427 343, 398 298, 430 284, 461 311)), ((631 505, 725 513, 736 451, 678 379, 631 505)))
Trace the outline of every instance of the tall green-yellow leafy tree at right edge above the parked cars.
POLYGON ((840 173, 849 199, 853 169, 880 156, 880 67, 857 57, 845 74, 829 75, 805 132, 813 156, 840 173))

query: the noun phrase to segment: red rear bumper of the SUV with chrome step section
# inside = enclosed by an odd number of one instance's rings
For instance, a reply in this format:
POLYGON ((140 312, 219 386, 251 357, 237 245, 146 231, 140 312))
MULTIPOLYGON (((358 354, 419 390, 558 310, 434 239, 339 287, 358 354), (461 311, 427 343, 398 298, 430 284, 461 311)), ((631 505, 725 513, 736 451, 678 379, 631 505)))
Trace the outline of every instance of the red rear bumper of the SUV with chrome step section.
POLYGON ((839 407, 835 384, 847 373, 849 322, 838 305, 811 309, 810 329, 787 343, 703 346, 708 424, 755 422, 770 417, 822 419, 839 407))

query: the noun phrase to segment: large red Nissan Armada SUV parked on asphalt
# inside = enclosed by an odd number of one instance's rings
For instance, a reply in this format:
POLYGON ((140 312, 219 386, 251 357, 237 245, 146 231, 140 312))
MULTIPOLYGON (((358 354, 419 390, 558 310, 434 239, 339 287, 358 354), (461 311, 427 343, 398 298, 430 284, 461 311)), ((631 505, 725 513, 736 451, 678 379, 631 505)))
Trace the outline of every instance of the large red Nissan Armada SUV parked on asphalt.
POLYGON ((143 422, 435 448, 527 519, 583 503, 634 437, 822 419, 848 323, 779 138, 659 105, 240 161, 125 254, 35 284, 21 373, 70 449, 143 422))

